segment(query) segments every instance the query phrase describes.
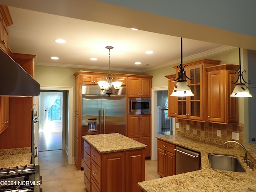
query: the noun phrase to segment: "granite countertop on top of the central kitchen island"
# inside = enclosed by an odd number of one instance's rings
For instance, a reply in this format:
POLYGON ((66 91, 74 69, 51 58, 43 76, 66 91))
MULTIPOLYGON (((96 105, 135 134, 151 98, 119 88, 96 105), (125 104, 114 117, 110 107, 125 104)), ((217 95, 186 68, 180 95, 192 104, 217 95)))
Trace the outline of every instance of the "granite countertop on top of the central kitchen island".
POLYGON ((147 146, 119 133, 82 136, 99 153, 143 149, 147 146))

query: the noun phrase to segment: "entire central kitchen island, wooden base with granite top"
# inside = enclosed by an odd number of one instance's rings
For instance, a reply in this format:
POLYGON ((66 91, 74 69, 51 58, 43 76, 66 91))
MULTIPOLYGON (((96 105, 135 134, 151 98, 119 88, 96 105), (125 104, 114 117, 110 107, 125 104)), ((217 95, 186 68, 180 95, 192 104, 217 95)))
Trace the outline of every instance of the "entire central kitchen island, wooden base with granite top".
POLYGON ((140 192, 146 145, 119 133, 82 136, 86 190, 140 192))

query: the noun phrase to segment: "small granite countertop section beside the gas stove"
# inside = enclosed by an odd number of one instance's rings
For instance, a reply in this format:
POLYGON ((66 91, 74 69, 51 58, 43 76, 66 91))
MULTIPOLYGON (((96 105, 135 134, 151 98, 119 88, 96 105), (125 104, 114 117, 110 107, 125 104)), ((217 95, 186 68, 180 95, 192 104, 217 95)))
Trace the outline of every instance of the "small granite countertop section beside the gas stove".
POLYGON ((11 168, 29 165, 31 160, 31 148, 12 148, 0 150, 0 168, 11 168))

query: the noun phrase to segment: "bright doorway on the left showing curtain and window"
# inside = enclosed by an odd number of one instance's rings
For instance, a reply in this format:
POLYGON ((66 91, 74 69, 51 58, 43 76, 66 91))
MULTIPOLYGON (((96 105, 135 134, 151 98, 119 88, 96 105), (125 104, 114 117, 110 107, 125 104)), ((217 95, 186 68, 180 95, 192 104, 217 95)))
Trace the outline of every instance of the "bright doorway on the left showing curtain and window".
POLYGON ((38 151, 60 150, 63 146, 64 91, 41 90, 39 96, 38 151))

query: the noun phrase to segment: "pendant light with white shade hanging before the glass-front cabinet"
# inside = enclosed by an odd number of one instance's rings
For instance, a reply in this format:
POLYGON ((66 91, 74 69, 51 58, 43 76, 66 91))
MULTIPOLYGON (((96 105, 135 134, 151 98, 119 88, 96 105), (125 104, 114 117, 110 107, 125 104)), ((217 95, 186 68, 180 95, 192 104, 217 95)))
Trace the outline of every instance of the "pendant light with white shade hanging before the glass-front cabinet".
MULTIPOLYGON (((180 68, 180 72, 179 72, 178 78, 176 78, 176 79, 173 78, 173 80, 177 81, 177 83, 174 86, 173 92, 170 96, 176 96, 176 97, 194 96, 194 94, 191 92, 190 86, 186 80, 186 78, 188 78, 188 76, 186 76, 185 70, 184 70, 184 68, 186 66, 188 66, 188 65, 185 65, 184 67, 182 66, 182 38, 181 38, 181 63, 180 63, 180 65, 177 66, 177 68, 178 67, 180 68), (185 79, 183 78, 183 76, 185 77, 185 79)), ((188 79, 192 80, 193 77, 191 76, 188 79)))

